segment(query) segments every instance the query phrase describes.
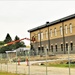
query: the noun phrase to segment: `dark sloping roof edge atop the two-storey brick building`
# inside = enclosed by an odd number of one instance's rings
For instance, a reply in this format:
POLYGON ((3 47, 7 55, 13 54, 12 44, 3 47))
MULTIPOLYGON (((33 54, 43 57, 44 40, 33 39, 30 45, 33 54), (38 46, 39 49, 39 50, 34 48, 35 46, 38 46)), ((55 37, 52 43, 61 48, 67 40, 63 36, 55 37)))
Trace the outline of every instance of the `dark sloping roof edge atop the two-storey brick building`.
POLYGON ((28 32, 33 32, 35 30, 39 30, 39 29, 42 29, 42 28, 45 28, 45 27, 48 27, 48 26, 52 26, 54 24, 57 24, 57 23, 60 23, 60 22, 64 22, 64 21, 72 19, 72 18, 75 18, 75 14, 69 15, 67 17, 63 17, 61 19, 58 19, 58 20, 55 20, 55 21, 52 21, 52 22, 49 22, 49 23, 47 22, 44 25, 41 25, 41 26, 38 26, 38 27, 35 27, 33 29, 28 30, 28 32))

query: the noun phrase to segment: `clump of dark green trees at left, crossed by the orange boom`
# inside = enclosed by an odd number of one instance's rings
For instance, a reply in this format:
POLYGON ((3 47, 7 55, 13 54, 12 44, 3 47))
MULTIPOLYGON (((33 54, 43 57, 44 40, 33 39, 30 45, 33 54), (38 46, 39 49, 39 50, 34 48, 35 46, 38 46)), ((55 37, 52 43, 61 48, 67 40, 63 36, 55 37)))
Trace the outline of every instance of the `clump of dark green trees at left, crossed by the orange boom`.
MULTIPOLYGON (((14 41, 16 41, 16 40, 20 40, 20 38, 18 36, 16 36, 14 41)), ((0 41, 0 45, 2 46, 2 45, 7 44, 9 42, 12 42, 12 38, 9 35, 9 33, 7 33, 7 35, 5 37, 5 40, 0 41)), ((14 50, 14 49, 17 49, 19 47, 26 47, 26 45, 24 44, 23 41, 19 41, 19 42, 16 42, 15 44, 12 44, 12 45, 7 45, 7 46, 4 46, 4 47, 0 47, 0 53, 5 53, 5 51, 14 50)))

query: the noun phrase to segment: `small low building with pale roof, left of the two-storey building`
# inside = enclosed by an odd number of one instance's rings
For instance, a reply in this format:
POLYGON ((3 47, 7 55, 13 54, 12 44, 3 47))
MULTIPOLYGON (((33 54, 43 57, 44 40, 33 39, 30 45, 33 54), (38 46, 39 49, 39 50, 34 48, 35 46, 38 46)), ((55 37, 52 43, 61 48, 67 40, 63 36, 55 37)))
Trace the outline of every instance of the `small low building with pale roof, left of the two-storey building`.
POLYGON ((20 47, 17 48, 15 50, 10 50, 10 51, 6 51, 7 57, 8 58, 13 58, 16 56, 27 56, 28 55, 28 51, 30 51, 30 48, 26 48, 26 47, 20 47))

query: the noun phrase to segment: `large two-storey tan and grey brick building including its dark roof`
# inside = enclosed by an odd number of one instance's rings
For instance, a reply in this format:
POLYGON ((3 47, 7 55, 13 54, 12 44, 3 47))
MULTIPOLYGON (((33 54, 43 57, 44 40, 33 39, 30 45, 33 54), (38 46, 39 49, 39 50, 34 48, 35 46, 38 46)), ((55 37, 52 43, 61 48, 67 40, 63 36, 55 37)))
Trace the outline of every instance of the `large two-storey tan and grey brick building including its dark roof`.
POLYGON ((28 30, 36 54, 75 53, 75 14, 28 30))

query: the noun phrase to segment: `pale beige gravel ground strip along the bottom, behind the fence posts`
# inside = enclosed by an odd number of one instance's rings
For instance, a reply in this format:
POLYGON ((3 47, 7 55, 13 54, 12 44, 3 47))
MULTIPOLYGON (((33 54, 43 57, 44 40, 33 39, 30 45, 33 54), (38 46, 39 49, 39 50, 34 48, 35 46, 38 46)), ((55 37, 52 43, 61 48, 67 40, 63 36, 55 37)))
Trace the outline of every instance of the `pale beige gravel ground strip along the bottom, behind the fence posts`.
MULTIPOLYGON (((23 73, 30 75, 46 75, 45 66, 26 66, 25 64, 0 64, 0 70, 12 73, 23 73)), ((71 68, 71 75, 75 75, 75 68, 71 68)), ((47 75, 69 75, 68 68, 47 67, 47 75)))

